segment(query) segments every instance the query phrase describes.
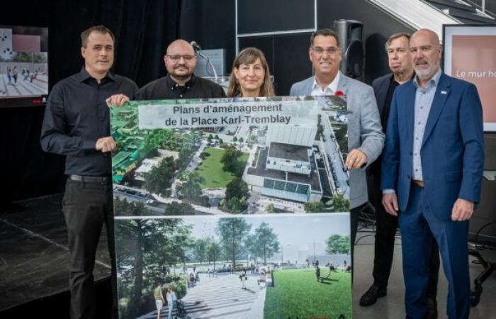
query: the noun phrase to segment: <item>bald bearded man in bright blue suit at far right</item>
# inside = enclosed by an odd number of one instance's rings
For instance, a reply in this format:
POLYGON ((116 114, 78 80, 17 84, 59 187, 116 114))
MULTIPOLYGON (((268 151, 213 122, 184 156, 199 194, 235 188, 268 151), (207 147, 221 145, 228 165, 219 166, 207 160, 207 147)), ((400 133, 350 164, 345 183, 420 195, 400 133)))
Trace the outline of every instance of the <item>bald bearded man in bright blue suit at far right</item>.
POLYGON ((468 318, 468 220, 480 199, 482 106, 473 84, 441 72, 439 38, 410 39, 416 76, 393 96, 383 151, 383 205, 399 213, 407 318, 424 318, 432 240, 449 281, 449 318, 468 318), (434 235, 434 237, 433 237, 434 235))

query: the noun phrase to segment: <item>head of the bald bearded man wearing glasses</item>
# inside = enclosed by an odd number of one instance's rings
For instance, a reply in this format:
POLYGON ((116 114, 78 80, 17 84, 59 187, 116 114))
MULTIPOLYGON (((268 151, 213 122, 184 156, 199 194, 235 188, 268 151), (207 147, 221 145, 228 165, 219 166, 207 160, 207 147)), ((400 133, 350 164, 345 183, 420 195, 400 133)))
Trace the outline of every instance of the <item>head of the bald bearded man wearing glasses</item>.
POLYGON ((184 85, 191 79, 196 68, 196 54, 193 47, 185 40, 174 40, 164 56, 167 72, 179 85, 184 85))

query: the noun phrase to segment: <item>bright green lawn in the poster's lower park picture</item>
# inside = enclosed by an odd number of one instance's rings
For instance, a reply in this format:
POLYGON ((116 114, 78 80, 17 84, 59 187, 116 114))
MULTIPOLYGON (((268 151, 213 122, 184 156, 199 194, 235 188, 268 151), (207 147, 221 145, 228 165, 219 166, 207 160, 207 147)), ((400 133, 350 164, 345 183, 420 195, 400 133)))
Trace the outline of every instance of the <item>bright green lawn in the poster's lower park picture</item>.
MULTIPOLYGON (((317 282, 315 269, 281 269, 266 288, 264 318, 351 318, 351 273, 332 272, 335 281, 317 282)), ((320 267, 320 276, 329 268, 320 267)))

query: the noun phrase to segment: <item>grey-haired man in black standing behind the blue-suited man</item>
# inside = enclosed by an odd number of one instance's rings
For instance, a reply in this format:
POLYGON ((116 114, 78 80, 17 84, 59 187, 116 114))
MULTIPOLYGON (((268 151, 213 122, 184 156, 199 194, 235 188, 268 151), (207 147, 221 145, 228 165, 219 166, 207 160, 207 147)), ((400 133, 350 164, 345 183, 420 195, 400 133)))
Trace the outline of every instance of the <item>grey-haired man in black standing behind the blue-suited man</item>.
MULTIPOLYGON (((410 46, 408 45, 409 40, 410 35, 408 33, 395 33, 390 36, 385 43, 385 49, 388 52, 389 68, 393 73, 379 77, 372 82, 384 133, 388 126, 390 104, 396 87, 414 77, 413 62, 410 55, 410 46)), ((376 241, 374 243, 375 256, 373 263, 374 282, 371 288, 361 297, 361 306, 370 306, 376 303, 377 298, 381 298, 387 294, 388 279, 393 263, 395 234, 396 228, 398 228, 398 217, 388 214, 381 204, 381 198, 383 196, 381 191, 381 162, 381 157, 379 157, 376 162, 371 164, 373 201, 376 208, 376 241)), ((437 317, 436 293, 439 274, 439 249, 435 241, 433 242, 429 289, 427 291, 431 307, 429 307, 427 318, 437 317)))

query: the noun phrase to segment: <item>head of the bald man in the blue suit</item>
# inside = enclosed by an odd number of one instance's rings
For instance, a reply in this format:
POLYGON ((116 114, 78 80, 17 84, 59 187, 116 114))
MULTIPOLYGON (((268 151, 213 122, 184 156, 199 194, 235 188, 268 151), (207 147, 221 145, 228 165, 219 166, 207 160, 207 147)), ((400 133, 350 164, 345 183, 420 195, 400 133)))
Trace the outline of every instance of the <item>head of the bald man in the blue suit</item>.
POLYGON ((413 69, 420 84, 425 84, 440 68, 442 47, 439 36, 432 30, 420 29, 410 39, 413 69))

